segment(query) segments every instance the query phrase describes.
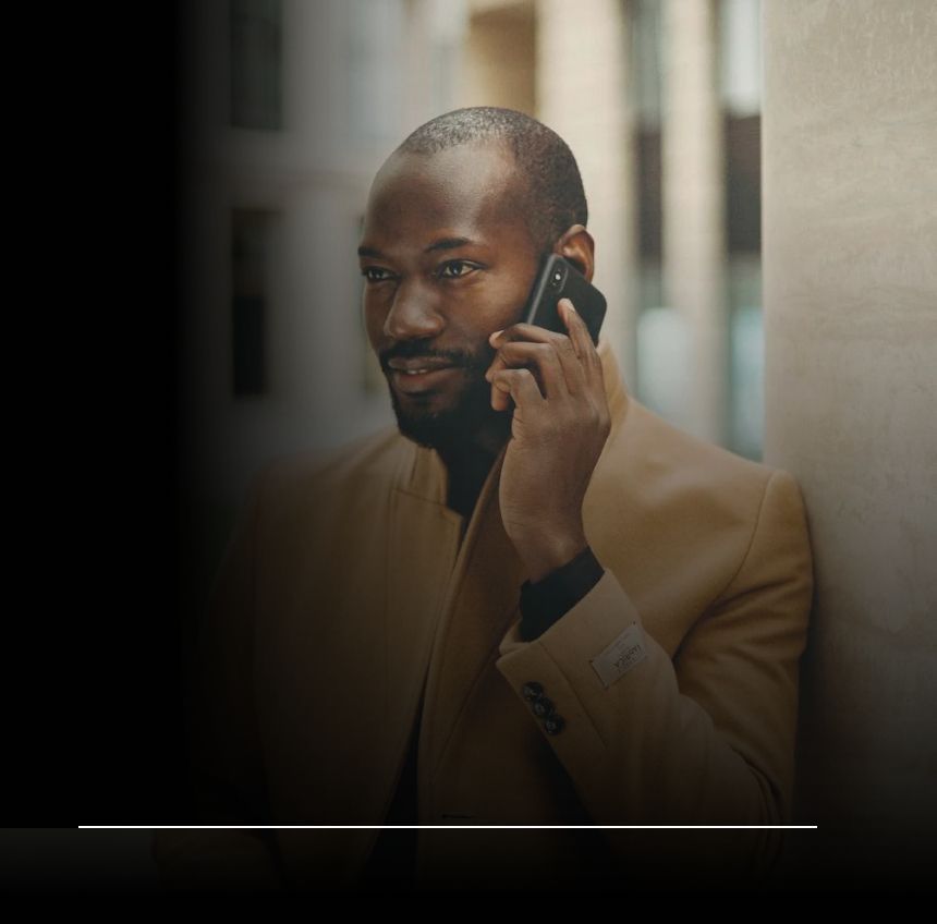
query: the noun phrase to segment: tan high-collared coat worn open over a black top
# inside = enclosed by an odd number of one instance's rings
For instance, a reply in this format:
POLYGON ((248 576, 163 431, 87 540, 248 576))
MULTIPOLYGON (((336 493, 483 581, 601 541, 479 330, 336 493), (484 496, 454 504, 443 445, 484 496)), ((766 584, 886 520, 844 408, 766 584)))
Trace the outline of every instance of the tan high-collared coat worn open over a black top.
MULTIPOLYGON (((498 509, 503 453, 464 540, 439 457, 396 427, 261 473, 203 636, 199 767, 265 792, 279 824, 380 824, 425 681, 421 824, 789 822, 812 592, 799 490, 653 415, 605 341, 599 355, 612 429, 583 516, 606 571, 534 642, 518 634, 527 575, 498 509)), ((377 834, 277 838, 291 880, 314 887, 351 879, 377 834)), ((599 843, 624 877, 684 853, 734 876, 767 868, 779 844, 777 831, 709 832, 705 847, 699 834, 423 829, 418 868, 428 884, 534 888, 583 875, 599 843)), ((170 886, 272 880, 244 832, 161 831, 154 855, 170 886)))

